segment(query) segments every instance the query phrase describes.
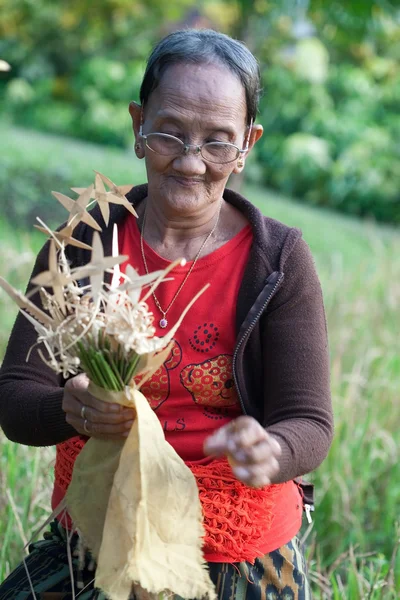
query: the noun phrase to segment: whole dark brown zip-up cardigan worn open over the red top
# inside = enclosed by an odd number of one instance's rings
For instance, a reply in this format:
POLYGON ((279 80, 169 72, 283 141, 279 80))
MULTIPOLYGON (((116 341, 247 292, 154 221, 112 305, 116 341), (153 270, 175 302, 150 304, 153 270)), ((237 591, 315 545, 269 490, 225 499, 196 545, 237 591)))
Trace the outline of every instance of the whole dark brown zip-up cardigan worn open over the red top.
MULTIPOLYGON (((133 205, 147 186, 128 194, 133 205)), ((315 469, 332 439, 329 356, 321 287, 307 244, 298 229, 264 217, 245 198, 225 190, 253 228, 254 241, 237 303, 237 344, 233 368, 243 412, 254 416, 282 446, 279 481, 315 469)), ((111 206, 105 227, 99 209, 93 216, 103 226, 105 254, 111 254, 113 223, 126 209, 111 206)), ((81 223, 75 237, 89 243, 93 230, 81 223)), ((47 269, 47 244, 32 273, 47 269)), ((68 247, 73 266, 89 260, 86 250, 68 247)), ((38 295, 32 298, 39 303, 38 295)), ((7 437, 32 446, 62 442, 76 431, 61 408, 63 381, 34 350, 36 333, 18 315, 0 370, 0 425, 7 437)))

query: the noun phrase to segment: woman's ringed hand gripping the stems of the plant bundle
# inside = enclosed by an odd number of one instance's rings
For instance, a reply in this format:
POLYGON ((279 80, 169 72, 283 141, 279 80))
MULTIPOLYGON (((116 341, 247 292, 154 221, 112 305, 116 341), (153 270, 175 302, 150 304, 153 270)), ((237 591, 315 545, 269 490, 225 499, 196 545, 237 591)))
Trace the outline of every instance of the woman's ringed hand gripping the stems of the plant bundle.
POLYGON ((127 437, 136 413, 132 408, 98 400, 88 392, 89 379, 80 373, 64 387, 62 409, 67 423, 80 434, 103 440, 127 437))

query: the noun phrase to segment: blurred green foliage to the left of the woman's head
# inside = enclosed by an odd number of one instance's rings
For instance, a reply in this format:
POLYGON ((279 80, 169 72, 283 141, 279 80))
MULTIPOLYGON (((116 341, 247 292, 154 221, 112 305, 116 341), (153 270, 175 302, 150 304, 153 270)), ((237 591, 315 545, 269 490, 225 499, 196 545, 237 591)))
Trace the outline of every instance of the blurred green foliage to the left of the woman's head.
POLYGON ((23 125, 126 145, 126 102, 138 95, 147 55, 191 5, 0 0, 0 55, 14 68, 2 78, 1 108, 23 125))

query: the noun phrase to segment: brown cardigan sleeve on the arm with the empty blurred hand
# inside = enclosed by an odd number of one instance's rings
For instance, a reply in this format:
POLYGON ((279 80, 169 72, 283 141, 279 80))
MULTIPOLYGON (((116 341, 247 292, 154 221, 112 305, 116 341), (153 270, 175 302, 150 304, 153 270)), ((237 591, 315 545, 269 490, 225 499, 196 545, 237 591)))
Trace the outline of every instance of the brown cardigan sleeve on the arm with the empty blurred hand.
POLYGON ((314 470, 333 435, 329 351, 320 282, 300 239, 262 318, 264 425, 281 447, 279 481, 314 470))

